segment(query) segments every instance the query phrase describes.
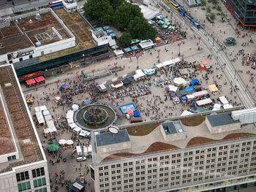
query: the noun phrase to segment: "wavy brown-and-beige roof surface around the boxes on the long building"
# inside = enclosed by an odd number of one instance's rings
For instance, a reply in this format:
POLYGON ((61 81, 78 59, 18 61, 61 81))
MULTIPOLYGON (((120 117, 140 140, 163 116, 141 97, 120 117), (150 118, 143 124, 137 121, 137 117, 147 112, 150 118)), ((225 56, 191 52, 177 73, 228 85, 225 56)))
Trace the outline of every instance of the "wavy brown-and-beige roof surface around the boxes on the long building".
MULTIPOLYGON (((237 110, 237 109, 233 109, 237 110)), ((230 111, 223 110, 221 117, 230 115, 230 111)), ((219 113, 219 112, 218 112, 219 113)), ((233 131, 222 132, 218 134, 211 134, 206 126, 206 115, 219 115, 217 112, 205 112, 200 115, 190 115, 185 118, 172 118, 170 120, 159 121, 154 123, 143 123, 140 125, 124 126, 121 129, 127 129, 130 139, 130 147, 125 150, 116 150, 109 153, 97 153, 97 145, 95 144, 95 137, 99 134, 92 134, 92 147, 94 164, 100 164, 105 161, 114 161, 122 158, 132 158, 139 155, 148 155, 151 153, 160 153, 167 150, 186 149, 188 147, 197 147, 201 145, 217 145, 218 142, 226 142, 234 139, 243 139, 246 137, 256 137, 256 128, 253 123, 246 124, 243 128, 233 131), (184 131, 187 134, 185 139, 165 142, 165 139, 160 131, 161 123, 167 123, 170 128, 170 133, 177 131, 176 122, 180 120, 184 126, 184 131), (141 131, 140 129, 143 129, 141 131), (146 134, 145 134, 146 133, 146 134)), ((222 118, 222 124, 226 125, 230 119, 222 118), (226 119, 226 123, 224 120, 226 119)), ((178 125, 178 124, 177 124, 178 125)), ((101 135, 103 139, 104 134, 101 135)))

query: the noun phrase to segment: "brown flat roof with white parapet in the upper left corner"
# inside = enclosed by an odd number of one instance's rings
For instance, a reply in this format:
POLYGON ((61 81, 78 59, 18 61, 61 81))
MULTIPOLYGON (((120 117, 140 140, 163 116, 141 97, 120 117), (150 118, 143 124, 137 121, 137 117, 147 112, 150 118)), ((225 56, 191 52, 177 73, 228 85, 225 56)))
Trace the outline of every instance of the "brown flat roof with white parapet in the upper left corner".
POLYGON ((41 42, 41 45, 60 41, 58 36, 52 37, 53 27, 56 28, 62 39, 70 38, 67 31, 50 11, 41 13, 40 16, 40 19, 36 19, 35 15, 28 18, 22 18, 20 15, 22 19, 18 19, 17 23, 12 19, 9 27, 0 28, 0 44, 2 45, 0 55, 34 47, 38 41, 41 42))

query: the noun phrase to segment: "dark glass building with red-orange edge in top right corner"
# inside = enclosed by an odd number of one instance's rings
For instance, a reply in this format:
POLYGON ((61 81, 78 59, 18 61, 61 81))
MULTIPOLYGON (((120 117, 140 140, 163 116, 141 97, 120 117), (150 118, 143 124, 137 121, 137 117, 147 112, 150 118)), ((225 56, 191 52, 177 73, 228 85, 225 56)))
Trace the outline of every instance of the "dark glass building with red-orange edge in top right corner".
POLYGON ((222 0, 238 23, 245 27, 256 26, 255 0, 222 0))

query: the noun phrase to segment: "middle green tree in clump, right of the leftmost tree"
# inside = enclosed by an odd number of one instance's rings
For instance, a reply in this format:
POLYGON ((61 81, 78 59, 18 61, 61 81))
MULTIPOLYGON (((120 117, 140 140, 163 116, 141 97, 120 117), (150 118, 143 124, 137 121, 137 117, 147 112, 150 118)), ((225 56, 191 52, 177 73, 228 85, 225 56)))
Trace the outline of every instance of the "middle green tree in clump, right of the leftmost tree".
POLYGON ((113 15, 113 23, 120 29, 127 28, 129 22, 135 17, 143 17, 143 14, 140 12, 140 7, 135 4, 125 2, 121 4, 113 15))

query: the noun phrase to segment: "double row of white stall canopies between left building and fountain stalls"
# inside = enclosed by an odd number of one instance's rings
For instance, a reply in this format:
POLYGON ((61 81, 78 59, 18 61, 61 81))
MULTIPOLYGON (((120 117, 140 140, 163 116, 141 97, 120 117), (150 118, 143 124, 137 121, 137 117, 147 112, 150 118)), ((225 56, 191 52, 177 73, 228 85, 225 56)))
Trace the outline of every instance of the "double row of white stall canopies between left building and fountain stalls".
POLYGON ((39 125, 45 126, 46 124, 47 128, 43 128, 43 134, 45 134, 45 136, 56 134, 57 129, 47 107, 42 105, 35 107, 34 110, 36 111, 36 117, 39 125))

